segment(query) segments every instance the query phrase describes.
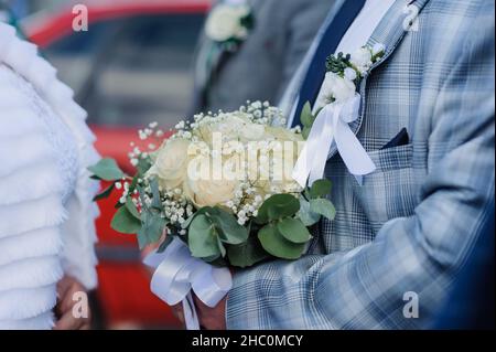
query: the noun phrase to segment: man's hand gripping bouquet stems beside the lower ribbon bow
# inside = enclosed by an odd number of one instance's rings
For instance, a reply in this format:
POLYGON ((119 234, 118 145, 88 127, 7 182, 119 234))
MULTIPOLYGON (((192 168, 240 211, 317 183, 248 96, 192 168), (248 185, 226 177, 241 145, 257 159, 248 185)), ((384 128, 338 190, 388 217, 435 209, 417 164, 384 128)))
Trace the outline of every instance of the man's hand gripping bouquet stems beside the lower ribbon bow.
MULTIPOLYGON (((205 306, 194 296, 196 313, 198 314, 200 327, 205 330, 226 330, 226 302, 227 296, 214 308, 205 306)), ((174 316, 184 324, 183 305, 171 307, 174 316)))

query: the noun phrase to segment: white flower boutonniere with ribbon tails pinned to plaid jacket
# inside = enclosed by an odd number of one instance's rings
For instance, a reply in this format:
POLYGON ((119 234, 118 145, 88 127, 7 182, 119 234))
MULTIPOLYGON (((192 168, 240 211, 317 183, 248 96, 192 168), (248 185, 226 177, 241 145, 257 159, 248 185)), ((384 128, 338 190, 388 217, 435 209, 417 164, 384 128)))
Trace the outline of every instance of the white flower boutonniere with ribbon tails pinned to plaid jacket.
POLYGON ((362 97, 357 87, 385 54, 385 45, 376 44, 363 46, 353 54, 327 57, 327 73, 314 106, 316 113, 312 113, 308 103, 301 115, 306 145, 293 170, 293 178, 300 185, 322 178, 333 145, 359 184, 364 175, 376 170, 349 124, 359 117, 362 97))

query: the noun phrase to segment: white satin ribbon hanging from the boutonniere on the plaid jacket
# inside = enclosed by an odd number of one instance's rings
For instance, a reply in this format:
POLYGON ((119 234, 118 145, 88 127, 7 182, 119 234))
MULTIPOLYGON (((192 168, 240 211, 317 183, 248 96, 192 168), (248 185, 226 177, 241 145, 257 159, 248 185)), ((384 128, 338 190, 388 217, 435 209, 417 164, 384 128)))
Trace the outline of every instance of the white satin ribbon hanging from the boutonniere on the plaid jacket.
POLYGON ((362 184, 363 175, 376 170, 348 125, 358 118, 359 107, 360 95, 355 94, 347 102, 328 104, 319 113, 292 173, 301 186, 306 186, 306 181, 312 185, 323 178, 333 143, 336 143, 341 158, 358 183, 362 184))

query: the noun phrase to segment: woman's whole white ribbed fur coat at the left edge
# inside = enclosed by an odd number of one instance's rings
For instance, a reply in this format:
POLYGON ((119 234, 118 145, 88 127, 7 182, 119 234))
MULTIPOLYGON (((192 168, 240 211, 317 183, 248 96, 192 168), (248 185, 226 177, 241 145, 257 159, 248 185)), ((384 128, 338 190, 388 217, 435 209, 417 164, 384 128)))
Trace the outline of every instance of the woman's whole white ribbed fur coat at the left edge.
MULTIPOLYGON (((91 198, 98 183, 87 167, 98 160, 85 111, 36 46, 0 23, 0 329, 50 329, 56 282, 65 274, 96 286, 91 198), (71 193, 43 120, 12 85, 31 94, 67 128, 77 163, 71 193)), ((25 94, 25 92, 24 92, 25 94)))

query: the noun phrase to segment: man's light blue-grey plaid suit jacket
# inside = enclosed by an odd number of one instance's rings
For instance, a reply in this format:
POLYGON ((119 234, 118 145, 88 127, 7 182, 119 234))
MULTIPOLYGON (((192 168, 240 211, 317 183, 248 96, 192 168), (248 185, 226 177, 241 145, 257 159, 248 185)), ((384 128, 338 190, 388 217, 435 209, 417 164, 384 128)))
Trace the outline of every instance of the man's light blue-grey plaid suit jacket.
POLYGON ((304 258, 237 273, 228 328, 424 328, 494 216, 494 2, 409 1, 419 23, 405 31, 407 2, 369 40, 387 55, 352 126, 377 171, 360 186, 333 151, 335 221, 304 258), (410 142, 381 149, 402 128, 410 142), (409 291, 418 319, 403 316, 409 291))

